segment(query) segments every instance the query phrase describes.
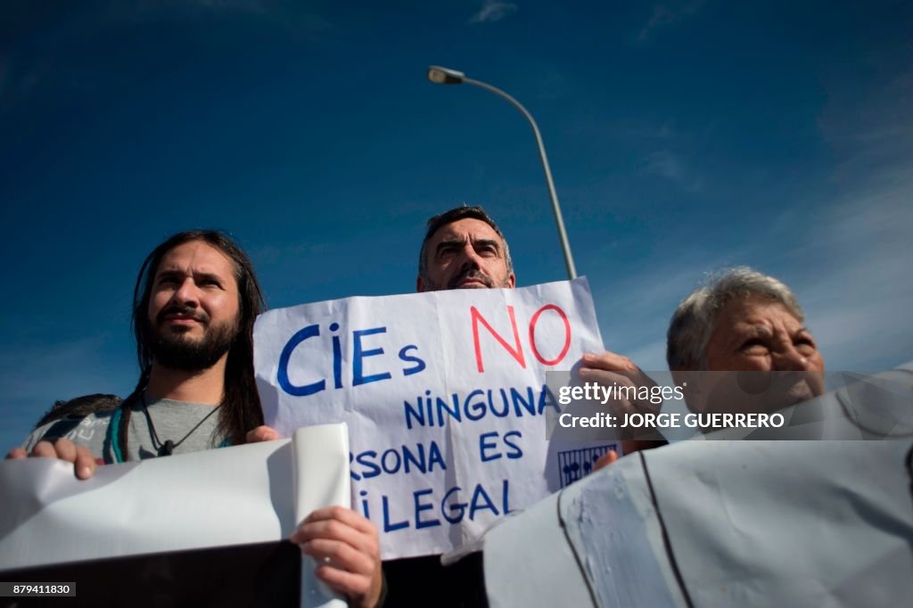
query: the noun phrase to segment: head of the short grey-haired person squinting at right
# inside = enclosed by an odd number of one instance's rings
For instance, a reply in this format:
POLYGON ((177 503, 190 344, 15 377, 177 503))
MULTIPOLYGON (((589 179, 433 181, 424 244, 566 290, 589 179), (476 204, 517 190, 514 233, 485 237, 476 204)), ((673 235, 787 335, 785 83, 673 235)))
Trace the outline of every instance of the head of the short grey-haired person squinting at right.
POLYGON ((666 362, 698 413, 769 413, 824 393, 824 358, 790 288, 750 267, 712 276, 678 305, 666 362))

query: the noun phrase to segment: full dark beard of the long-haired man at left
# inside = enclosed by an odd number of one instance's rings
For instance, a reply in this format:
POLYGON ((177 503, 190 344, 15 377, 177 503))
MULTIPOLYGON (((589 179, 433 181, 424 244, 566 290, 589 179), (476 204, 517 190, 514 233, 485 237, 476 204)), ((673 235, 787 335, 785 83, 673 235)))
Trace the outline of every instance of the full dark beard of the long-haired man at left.
POLYGON ((203 310, 169 307, 158 314, 156 326, 152 328, 152 356, 155 361, 171 370, 202 372, 208 370, 235 343, 238 334, 237 320, 218 325, 206 325, 205 333, 199 340, 186 335, 186 331, 162 329, 164 316, 172 313, 193 315, 201 323, 209 321, 203 310))

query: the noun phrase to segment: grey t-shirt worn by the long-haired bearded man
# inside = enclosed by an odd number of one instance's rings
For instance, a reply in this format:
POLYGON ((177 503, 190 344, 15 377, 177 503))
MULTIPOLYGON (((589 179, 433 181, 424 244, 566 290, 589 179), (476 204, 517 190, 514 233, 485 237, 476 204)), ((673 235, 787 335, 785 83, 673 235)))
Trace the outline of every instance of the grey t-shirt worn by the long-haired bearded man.
MULTIPOLYGON (((169 439, 177 444, 184 439, 184 435, 190 432, 194 425, 205 418, 206 415, 213 412, 213 405, 189 404, 183 401, 174 401, 173 399, 159 399, 147 404, 149 415, 152 417, 152 425, 158 435, 160 443, 155 444, 152 440, 152 431, 146 423, 146 415, 142 412, 142 404, 138 401, 132 405, 130 424, 127 429, 127 451, 129 457, 127 460, 140 460, 142 458, 154 458, 158 456, 158 448, 169 439)), ((105 437, 108 435, 108 428, 114 412, 102 412, 100 414, 89 414, 70 431, 66 436, 77 446, 86 446, 91 451, 96 460, 103 461, 105 437)), ((174 448, 174 454, 187 454, 190 452, 199 452, 219 446, 223 437, 215 436, 215 426, 218 424, 219 413, 216 412, 209 416, 206 421, 200 425, 193 433, 190 434, 180 446, 174 448)), ((31 452, 32 448, 37 445, 41 438, 47 433, 47 430, 54 425, 53 422, 47 425, 39 426, 35 431, 28 435, 22 447, 26 452, 31 452)), ((115 435, 116 429, 112 435, 115 435)), ((126 456, 126 455, 125 455, 126 456)))

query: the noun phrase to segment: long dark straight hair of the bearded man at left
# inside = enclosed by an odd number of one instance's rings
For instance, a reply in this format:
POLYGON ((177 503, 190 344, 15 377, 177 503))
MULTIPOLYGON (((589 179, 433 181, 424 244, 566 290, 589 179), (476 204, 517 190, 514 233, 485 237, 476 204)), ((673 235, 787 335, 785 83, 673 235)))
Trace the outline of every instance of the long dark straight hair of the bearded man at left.
POLYGON ((201 241, 214 246, 224 253, 235 267, 238 290, 238 332, 228 351, 225 372, 225 393, 219 411, 215 433, 232 445, 243 444, 247 431, 263 424, 260 396, 254 379, 254 321, 267 308, 263 292, 254 274, 254 267, 241 247, 219 230, 188 230, 170 236, 152 253, 140 267, 133 288, 133 336, 136 338, 136 358, 140 364, 140 381, 133 393, 124 400, 118 443, 127 455, 127 428, 132 405, 142 396, 149 383, 152 370, 152 327, 149 322, 149 300, 152 298, 152 284, 162 258, 176 246, 201 241))

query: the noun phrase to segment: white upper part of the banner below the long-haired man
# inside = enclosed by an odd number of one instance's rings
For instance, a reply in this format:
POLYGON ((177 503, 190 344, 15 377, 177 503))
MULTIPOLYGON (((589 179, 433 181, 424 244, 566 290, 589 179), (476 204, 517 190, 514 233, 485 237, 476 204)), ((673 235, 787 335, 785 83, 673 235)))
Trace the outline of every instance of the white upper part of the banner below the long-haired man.
MULTIPOLYGON (((0 462, 0 578, 61 562, 286 540, 312 510, 348 507, 348 446, 344 425, 312 426, 290 441, 99 466, 86 481, 62 460, 0 462)), ((315 567, 302 561, 301 605, 346 605, 315 567)), ((138 571, 136 584, 150 576, 138 571)))

